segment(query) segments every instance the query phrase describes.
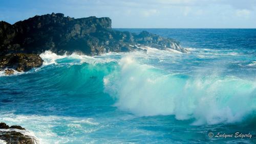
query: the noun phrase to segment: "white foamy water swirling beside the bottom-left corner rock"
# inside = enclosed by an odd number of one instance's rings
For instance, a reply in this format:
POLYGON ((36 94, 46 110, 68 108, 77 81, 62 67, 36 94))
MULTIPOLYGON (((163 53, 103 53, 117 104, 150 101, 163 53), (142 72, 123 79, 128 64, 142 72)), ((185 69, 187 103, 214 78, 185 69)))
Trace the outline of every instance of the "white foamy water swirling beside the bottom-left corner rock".
POLYGON ((99 123, 94 122, 93 118, 86 117, 67 117, 67 116, 40 116, 40 115, 17 115, 17 114, 1 114, 1 122, 6 122, 8 125, 20 125, 27 131, 15 130, 25 135, 32 136, 40 144, 48 143, 67 143, 77 139, 72 136, 66 136, 65 133, 91 133, 100 128, 99 123), (83 126, 81 126, 83 125, 83 126), (56 127, 66 128, 64 135, 56 135, 54 129, 56 127))

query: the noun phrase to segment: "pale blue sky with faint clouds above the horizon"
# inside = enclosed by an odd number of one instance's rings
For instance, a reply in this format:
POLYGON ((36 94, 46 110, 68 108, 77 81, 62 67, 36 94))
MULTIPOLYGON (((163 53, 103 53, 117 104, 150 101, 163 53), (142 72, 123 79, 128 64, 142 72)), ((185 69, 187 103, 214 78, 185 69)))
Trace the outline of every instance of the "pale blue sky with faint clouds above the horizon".
POLYGON ((112 28, 256 28, 256 0, 0 0, 0 21, 63 13, 110 17, 112 28))

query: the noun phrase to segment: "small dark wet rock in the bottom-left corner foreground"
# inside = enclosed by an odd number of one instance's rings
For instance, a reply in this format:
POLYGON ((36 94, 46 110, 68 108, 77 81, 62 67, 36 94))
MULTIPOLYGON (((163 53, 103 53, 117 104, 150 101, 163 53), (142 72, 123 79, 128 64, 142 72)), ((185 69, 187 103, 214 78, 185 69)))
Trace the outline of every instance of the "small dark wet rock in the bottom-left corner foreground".
POLYGON ((26 131, 20 126, 9 127, 5 123, 0 123, 0 139, 6 143, 17 144, 34 144, 37 143, 32 136, 24 135, 22 132, 26 131))

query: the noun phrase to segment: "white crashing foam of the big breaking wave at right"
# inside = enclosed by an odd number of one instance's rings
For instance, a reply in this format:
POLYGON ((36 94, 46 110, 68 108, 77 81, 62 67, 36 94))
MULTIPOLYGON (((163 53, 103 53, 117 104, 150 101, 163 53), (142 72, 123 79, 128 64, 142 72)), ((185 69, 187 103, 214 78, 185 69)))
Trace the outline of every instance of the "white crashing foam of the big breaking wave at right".
POLYGON ((119 66, 104 78, 105 92, 117 99, 115 106, 137 115, 171 114, 195 118, 194 125, 211 125, 240 122, 256 110, 255 81, 165 74, 132 56, 122 58, 119 66))

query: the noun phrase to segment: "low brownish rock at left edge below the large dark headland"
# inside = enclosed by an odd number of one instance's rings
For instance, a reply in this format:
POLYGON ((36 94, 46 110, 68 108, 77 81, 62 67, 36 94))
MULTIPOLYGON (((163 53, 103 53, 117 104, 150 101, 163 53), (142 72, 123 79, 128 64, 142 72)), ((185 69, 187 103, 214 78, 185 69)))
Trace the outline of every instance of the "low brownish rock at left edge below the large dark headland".
MULTIPOLYGON (((8 54, 0 57, 0 68, 14 68, 17 71, 28 71, 33 67, 40 67, 43 60, 36 54, 8 54)), ((8 71, 8 74, 11 71, 8 71)), ((7 71, 6 71, 7 74, 7 71)))

